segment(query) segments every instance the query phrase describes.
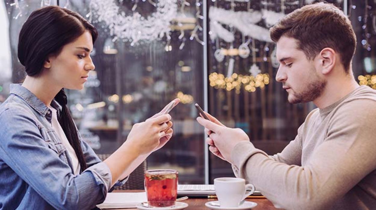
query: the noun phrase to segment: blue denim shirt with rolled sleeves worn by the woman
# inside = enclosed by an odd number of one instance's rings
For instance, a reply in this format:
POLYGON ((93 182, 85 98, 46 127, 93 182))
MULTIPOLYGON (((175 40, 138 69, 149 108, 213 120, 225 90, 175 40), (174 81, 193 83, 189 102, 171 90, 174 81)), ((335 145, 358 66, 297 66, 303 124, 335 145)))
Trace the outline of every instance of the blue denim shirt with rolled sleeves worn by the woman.
MULTIPOLYGON (((112 181, 108 166, 79 135, 88 168, 74 175, 52 111, 20 84, 10 90, 0 105, 0 210, 91 209, 103 202, 112 181)), ((59 115, 61 106, 51 106, 59 115)))

